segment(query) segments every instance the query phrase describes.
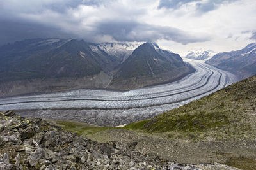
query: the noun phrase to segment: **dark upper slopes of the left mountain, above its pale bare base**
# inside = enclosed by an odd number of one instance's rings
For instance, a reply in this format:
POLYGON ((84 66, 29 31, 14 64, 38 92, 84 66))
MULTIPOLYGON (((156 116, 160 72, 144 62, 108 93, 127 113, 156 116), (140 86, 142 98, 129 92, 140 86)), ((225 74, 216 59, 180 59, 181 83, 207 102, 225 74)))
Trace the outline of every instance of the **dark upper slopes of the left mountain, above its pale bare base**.
POLYGON ((3 46, 0 56, 2 82, 92 76, 100 71, 107 72, 117 62, 107 54, 99 56, 85 41, 75 39, 20 41, 14 45, 3 46))

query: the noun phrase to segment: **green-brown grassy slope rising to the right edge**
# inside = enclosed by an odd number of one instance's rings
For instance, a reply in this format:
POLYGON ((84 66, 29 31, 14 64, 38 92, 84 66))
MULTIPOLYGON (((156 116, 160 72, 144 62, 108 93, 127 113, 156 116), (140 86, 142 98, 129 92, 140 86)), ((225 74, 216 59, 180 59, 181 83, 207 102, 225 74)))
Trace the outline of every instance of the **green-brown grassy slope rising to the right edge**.
POLYGON ((170 132, 170 137, 255 139, 256 76, 125 129, 170 132))

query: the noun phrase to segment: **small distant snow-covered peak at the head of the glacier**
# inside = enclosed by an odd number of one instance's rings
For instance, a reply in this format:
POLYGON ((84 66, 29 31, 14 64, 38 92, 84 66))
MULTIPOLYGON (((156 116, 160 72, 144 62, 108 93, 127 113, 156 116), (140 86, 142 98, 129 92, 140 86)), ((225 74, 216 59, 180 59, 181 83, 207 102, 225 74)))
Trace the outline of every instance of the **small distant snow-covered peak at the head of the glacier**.
POLYGON ((205 59, 208 59, 209 57, 212 57, 214 54, 213 51, 211 50, 195 50, 193 52, 189 52, 187 55, 186 55, 186 58, 188 59, 193 59, 193 60, 205 60, 205 59))

